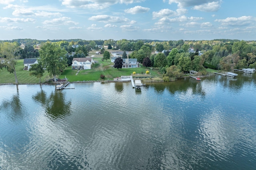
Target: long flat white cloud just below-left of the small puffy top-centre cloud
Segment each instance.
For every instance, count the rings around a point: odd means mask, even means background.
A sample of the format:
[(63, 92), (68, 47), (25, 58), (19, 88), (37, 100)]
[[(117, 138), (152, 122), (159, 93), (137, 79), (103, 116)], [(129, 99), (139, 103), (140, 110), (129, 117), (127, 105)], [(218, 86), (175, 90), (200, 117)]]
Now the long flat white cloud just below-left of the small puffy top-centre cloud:
[(129, 22), (130, 20), (128, 18), (120, 18), (116, 16), (109, 16), (109, 15), (98, 15), (98, 16), (92, 16), (88, 20), (91, 21), (99, 21), (99, 22), (105, 22), (105, 23), (124, 23)]

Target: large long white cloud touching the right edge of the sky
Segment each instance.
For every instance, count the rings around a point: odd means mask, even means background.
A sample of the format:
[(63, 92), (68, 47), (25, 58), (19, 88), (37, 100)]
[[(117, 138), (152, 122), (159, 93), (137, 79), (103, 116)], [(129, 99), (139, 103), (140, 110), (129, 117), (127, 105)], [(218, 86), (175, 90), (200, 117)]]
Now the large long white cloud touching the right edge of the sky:
[(238, 18), (228, 17), (223, 20), (215, 20), (215, 21), (222, 23), (222, 25), (245, 26), (245, 25), (250, 25), (254, 23), (256, 21), (256, 18), (252, 16), (242, 16)]

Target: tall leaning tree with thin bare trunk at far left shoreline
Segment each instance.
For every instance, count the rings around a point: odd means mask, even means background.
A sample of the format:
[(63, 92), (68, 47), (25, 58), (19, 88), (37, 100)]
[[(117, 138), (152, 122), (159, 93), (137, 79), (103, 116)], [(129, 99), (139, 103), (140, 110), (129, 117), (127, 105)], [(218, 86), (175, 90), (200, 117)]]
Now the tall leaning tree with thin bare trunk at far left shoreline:
[(4, 57), (4, 67), (7, 68), (8, 72), (14, 73), (15, 83), (18, 84), (16, 75), (16, 61), (19, 59), (18, 51), (20, 47), (14, 43), (2, 43), (0, 46), (0, 53)]

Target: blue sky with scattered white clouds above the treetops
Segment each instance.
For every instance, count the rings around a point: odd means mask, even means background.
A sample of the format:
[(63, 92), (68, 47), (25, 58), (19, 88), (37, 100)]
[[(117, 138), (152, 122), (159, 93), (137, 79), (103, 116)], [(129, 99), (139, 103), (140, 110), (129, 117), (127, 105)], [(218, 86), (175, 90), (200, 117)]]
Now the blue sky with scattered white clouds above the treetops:
[(0, 0), (0, 40), (256, 40), (256, 0)]

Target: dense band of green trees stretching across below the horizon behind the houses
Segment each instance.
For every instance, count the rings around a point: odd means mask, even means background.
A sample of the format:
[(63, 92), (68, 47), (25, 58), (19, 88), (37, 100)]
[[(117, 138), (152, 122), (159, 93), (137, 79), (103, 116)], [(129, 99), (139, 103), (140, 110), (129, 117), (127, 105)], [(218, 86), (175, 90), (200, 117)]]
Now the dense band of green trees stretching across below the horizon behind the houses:
[[(33, 40), (34, 42), (35, 40)], [(82, 41), (82, 40), (79, 40)], [(38, 43), (37, 41), (35, 41)], [(17, 59), (39, 57), (40, 64), (48, 70), (48, 72), (56, 77), (64, 71), (64, 68), (72, 64), (74, 57), (86, 57), (89, 51), (93, 48), (99, 47), (96, 41), (82, 41), (84, 45), (78, 45), (78, 41), (56, 41), (56, 42), (39, 42), (41, 49), (34, 49), (33, 46), (25, 46), (24, 49), (20, 48), (20, 43), (14, 42), (1, 42), (0, 43), (0, 58), (3, 61), (0, 68), (6, 68), (10, 73), (14, 73), (16, 77), (15, 64)], [(87, 42), (88, 44), (85, 44)], [(136, 58), (138, 62), (146, 67), (158, 68), (159, 72), (163, 74), (166, 80), (171, 78), (178, 78), (183, 73), (189, 70), (199, 71), (200, 74), (206, 74), (205, 67), (232, 70), (242, 68), (255, 68), (256, 67), (256, 42), (255, 41), (239, 41), (239, 40), (226, 40), (216, 39), (210, 41), (146, 41), (143, 40), (103, 40), (100, 41), (103, 45), (107, 43), (108, 48), (112, 44), (116, 47), (122, 48), (123, 51), (132, 51), (125, 58)], [(112, 44), (111, 44), (112, 43)], [(73, 45), (78, 45), (73, 47)], [(113, 45), (113, 46), (114, 46)], [(119, 45), (119, 46), (118, 46)], [(93, 48), (92, 48), (93, 47)], [(116, 48), (113, 47), (113, 48)], [(188, 50), (193, 49), (194, 52), (190, 53)], [(46, 53), (51, 51), (51, 54)], [(103, 60), (110, 59), (110, 53), (101, 49)], [(58, 52), (58, 53), (57, 53)], [(74, 52), (74, 53), (72, 53)], [(62, 63), (58, 66), (58, 70), (49, 66), (46, 56), (57, 57), (54, 61)], [(33, 70), (34, 68), (32, 68)], [(40, 70), (39, 68), (35, 68)], [(18, 83), (18, 80), (16, 80)]]

